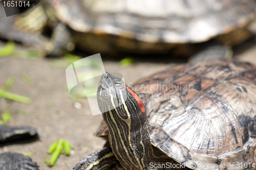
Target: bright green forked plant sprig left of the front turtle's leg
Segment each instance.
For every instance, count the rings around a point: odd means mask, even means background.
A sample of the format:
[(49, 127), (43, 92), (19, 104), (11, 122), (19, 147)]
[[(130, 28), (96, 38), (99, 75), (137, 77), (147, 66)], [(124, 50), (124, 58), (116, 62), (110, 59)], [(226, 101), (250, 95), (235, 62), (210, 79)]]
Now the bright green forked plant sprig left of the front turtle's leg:
[[(70, 155), (70, 150), (72, 149), (72, 145), (68, 140), (63, 140), (63, 138), (60, 138), (59, 140), (52, 143), (52, 145), (48, 149), (48, 154), (52, 154), (49, 161), (45, 158), (45, 163), (48, 166), (54, 166), (56, 165), (56, 160), (59, 157), (60, 154), (66, 154), (67, 156)], [(63, 152), (64, 150), (64, 152)]]

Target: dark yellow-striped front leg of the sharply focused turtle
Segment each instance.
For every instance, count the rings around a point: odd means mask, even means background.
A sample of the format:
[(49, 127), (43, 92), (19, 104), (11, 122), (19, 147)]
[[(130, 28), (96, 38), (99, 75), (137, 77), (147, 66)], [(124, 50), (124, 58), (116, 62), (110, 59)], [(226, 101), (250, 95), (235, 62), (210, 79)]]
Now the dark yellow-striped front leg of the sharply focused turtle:
[(81, 159), (79, 163), (73, 167), (74, 170), (104, 170), (104, 169), (123, 169), (115, 155), (113, 154), (111, 148), (104, 147), (91, 155), (88, 155)]

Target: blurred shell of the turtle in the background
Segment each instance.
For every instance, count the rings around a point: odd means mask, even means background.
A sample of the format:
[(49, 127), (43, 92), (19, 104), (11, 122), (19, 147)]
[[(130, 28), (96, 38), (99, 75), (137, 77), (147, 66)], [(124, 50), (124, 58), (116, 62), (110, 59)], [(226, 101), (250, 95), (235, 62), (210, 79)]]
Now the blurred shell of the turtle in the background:
[[(243, 28), (255, 16), (252, 0), (54, 0), (56, 16), (76, 31), (83, 49), (163, 52)], [(84, 34), (87, 33), (87, 34)]]

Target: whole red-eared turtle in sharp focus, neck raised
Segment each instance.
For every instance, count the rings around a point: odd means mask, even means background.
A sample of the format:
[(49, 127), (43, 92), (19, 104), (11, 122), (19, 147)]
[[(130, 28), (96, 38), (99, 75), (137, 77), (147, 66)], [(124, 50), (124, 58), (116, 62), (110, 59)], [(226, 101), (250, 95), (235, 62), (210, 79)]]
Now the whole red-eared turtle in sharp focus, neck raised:
[(255, 91), (248, 62), (181, 64), (132, 88), (105, 72), (97, 135), (109, 142), (73, 169), (255, 169)]

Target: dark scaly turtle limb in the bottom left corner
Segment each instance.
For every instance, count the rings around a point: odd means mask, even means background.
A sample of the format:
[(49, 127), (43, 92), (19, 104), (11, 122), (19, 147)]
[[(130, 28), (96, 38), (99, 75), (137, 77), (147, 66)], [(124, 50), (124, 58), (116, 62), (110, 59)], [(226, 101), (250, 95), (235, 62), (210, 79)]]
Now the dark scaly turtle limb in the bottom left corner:
[(2, 170), (39, 170), (38, 165), (31, 158), (18, 153), (7, 152), (0, 155), (0, 169)]

